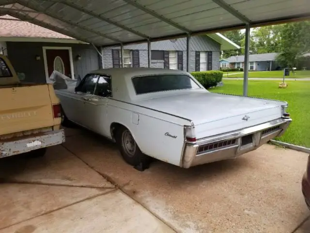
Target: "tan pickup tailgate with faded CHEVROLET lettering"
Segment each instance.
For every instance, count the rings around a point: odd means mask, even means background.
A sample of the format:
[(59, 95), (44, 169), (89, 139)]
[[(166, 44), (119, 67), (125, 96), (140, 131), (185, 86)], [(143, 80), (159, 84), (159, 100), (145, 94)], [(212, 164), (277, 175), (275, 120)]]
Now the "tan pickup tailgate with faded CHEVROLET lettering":
[(0, 86), (0, 135), (54, 124), (47, 84)]

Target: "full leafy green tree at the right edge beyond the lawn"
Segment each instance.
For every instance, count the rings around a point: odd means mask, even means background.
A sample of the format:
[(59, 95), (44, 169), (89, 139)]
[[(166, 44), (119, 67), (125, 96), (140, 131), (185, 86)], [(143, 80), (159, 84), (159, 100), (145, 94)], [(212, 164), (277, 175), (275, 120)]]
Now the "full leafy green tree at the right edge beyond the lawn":
[(288, 23), (280, 31), (281, 43), (277, 61), (282, 67), (298, 66), (303, 54), (310, 52), (310, 21)]

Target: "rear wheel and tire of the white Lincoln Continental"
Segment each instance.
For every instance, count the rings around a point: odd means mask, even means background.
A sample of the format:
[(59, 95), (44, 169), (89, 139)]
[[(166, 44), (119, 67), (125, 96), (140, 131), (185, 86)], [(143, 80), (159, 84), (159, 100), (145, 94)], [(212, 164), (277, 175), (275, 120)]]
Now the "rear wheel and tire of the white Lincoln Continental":
[(151, 158), (141, 152), (131, 132), (127, 128), (121, 127), (117, 129), (115, 139), (124, 160), (128, 164), (140, 171), (149, 168)]

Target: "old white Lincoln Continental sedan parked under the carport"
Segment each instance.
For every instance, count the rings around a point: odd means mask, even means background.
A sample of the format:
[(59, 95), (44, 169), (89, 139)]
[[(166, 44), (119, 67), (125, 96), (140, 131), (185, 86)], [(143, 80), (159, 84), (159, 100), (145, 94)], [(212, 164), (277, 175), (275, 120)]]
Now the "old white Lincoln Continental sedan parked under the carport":
[(184, 168), (235, 158), (292, 121), (286, 102), (210, 93), (180, 70), (100, 69), (56, 93), (64, 123), (115, 141), (141, 170), (150, 157)]

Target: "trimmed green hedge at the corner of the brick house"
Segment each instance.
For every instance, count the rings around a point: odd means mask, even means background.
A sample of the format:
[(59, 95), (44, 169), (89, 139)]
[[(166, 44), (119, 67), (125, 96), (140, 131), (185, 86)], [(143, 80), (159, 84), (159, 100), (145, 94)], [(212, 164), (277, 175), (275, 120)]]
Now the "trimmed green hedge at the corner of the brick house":
[(193, 75), (204, 88), (216, 86), (223, 78), (223, 72), (218, 70), (196, 71), (191, 72), (191, 75)]

